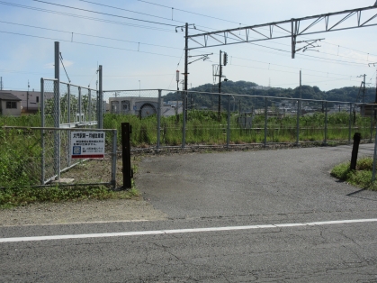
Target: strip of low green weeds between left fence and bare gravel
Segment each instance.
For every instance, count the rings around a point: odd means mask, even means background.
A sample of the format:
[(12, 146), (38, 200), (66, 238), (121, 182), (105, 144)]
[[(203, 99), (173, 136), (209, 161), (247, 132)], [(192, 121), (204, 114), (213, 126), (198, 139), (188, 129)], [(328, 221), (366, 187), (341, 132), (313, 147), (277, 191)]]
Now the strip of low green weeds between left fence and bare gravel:
[(18, 205), (85, 199), (130, 199), (138, 197), (136, 188), (127, 191), (112, 191), (103, 186), (72, 187), (19, 187), (0, 190), (0, 208), (11, 208)]

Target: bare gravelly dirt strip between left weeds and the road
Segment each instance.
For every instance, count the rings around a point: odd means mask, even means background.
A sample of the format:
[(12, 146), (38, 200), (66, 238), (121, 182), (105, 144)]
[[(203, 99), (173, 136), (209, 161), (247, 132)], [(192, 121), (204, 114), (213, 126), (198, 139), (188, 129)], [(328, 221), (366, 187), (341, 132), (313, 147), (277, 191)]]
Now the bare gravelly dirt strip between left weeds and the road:
[(0, 210), (0, 226), (163, 220), (144, 200), (109, 199), (32, 204)]

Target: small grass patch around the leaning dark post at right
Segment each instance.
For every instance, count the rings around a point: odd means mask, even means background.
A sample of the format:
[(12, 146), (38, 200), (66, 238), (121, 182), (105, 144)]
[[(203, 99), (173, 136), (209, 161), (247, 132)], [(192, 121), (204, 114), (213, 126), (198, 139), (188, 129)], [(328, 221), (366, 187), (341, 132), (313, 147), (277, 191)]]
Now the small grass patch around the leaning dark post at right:
[(377, 190), (377, 182), (372, 182), (373, 159), (368, 157), (357, 160), (356, 170), (350, 169), (350, 163), (337, 165), (331, 170), (331, 175), (356, 187)]

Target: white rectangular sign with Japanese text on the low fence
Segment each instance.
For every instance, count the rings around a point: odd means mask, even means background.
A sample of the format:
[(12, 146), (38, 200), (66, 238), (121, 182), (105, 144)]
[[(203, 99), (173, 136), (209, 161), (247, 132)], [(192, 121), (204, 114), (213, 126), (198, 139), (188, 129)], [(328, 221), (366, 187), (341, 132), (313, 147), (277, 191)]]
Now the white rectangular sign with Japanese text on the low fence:
[(71, 132), (73, 159), (103, 159), (104, 132)]

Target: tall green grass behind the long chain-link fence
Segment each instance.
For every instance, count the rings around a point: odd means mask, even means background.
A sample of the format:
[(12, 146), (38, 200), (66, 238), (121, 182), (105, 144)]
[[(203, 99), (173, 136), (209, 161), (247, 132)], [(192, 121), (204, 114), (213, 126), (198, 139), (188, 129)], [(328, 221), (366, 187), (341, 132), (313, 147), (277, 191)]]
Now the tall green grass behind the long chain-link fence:
[[(238, 126), (238, 114), (230, 116), (231, 143), (259, 143), (265, 140), (265, 115), (254, 115), (251, 129), (241, 129)], [(182, 144), (183, 114), (161, 117), (160, 144), (175, 146)], [(139, 119), (136, 115), (105, 114), (104, 128), (118, 129), (121, 123), (128, 122), (132, 126), (131, 145), (133, 147), (149, 147), (157, 144), (157, 117), (156, 115)], [(349, 113), (339, 112), (328, 114), (328, 140), (346, 141), (349, 138)], [(361, 132), (364, 139), (374, 136), (375, 123), (371, 131), (371, 118), (356, 114), (355, 121), (351, 121), (351, 138), (354, 132)], [(185, 139), (187, 144), (225, 144), (227, 142), (228, 117), (222, 112), (220, 120), (217, 112), (188, 111)], [(267, 142), (296, 142), (297, 116), (268, 117)], [(325, 114), (315, 113), (300, 117), (300, 142), (320, 142), (325, 139)], [(121, 139), (119, 136), (119, 143)]]

